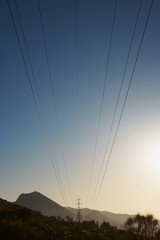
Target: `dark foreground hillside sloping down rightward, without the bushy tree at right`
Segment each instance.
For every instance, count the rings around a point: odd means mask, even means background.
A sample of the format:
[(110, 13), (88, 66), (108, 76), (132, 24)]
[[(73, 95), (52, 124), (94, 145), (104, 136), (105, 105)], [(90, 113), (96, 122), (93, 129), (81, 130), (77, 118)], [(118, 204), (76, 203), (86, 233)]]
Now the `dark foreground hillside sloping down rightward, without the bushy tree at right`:
[(94, 221), (77, 223), (47, 217), (0, 199), (1, 240), (120, 240), (121, 236), (128, 240), (126, 234), (109, 224), (98, 226)]

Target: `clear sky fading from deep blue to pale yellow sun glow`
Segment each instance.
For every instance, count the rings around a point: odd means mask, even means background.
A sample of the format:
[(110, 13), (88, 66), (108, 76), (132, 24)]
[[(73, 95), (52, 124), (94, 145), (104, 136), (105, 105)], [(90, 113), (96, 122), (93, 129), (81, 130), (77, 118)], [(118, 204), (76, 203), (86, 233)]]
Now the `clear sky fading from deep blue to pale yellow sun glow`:
[[(140, 1), (117, 1), (95, 160), (93, 155), (115, 1), (77, 0), (76, 5), (73, 0), (40, 0), (56, 110), (38, 2), (17, 0), (16, 3), (44, 110), (46, 137), (36, 111), (7, 1), (0, 0), (0, 197), (15, 201), (21, 193), (39, 191), (63, 206), (76, 207), (79, 197), (82, 207), (115, 213), (153, 213), (160, 219), (159, 1), (153, 1), (112, 155), (94, 206), (98, 174)], [(39, 108), (14, 1), (9, 0), (9, 4)], [(103, 171), (150, 4), (150, 0), (142, 1)], [(58, 167), (65, 201), (52, 160)]]

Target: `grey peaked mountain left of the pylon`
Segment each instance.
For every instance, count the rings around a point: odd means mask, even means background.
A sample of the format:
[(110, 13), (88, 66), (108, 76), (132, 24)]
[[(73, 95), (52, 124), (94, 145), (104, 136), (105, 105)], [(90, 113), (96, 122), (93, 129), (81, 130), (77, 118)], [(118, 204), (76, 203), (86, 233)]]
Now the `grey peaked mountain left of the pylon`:
[(73, 217), (73, 214), (69, 210), (39, 192), (22, 193), (15, 203), (32, 210), (40, 211), (45, 216)]

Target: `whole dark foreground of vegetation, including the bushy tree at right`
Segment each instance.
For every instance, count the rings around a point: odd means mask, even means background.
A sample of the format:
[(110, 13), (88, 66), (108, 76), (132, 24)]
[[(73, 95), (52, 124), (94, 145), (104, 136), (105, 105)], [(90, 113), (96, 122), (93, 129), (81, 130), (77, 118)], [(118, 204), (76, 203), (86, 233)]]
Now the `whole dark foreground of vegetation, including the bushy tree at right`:
[(153, 240), (160, 239), (158, 221), (152, 215), (136, 215), (117, 229), (108, 222), (74, 222), (46, 217), (23, 207), (0, 209), (1, 240)]

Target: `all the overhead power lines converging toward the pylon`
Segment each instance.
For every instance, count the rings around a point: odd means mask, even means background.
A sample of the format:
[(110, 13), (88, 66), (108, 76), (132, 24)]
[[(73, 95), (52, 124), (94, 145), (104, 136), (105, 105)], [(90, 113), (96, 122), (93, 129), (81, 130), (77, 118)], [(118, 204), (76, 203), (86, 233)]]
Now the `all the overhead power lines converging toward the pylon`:
[[(22, 44), (21, 44), (20, 37), (19, 37), (19, 34), (18, 34), (17, 26), (16, 26), (16, 23), (15, 23), (15, 20), (14, 20), (14, 17), (13, 17), (12, 9), (11, 9), (9, 0), (6, 0), (6, 1), (7, 1), (7, 4), (8, 4), (8, 9), (9, 9), (9, 12), (10, 12), (13, 27), (14, 27), (14, 30), (15, 30), (15, 33), (16, 33), (18, 46), (19, 46), (21, 56), (22, 56), (22, 60), (23, 60), (23, 63), (24, 63), (24, 67), (25, 67), (25, 70), (26, 70), (27, 79), (28, 79), (29, 86), (30, 86), (30, 89), (31, 89), (31, 92), (32, 92), (32, 96), (33, 96), (34, 104), (35, 104), (35, 107), (36, 107), (37, 115), (38, 115), (38, 118), (39, 118), (39, 121), (40, 121), (42, 133), (43, 133), (44, 138), (45, 138), (45, 143), (46, 143), (46, 148), (47, 148), (47, 151), (48, 151), (48, 156), (49, 156), (49, 159), (51, 161), (51, 165), (53, 167), (54, 174), (56, 176), (57, 184), (58, 184), (58, 187), (59, 187), (64, 205), (69, 206), (68, 200), (67, 200), (67, 197), (66, 197), (66, 193), (64, 191), (64, 186), (63, 186), (63, 183), (62, 183), (62, 178), (61, 178), (61, 175), (60, 175), (58, 164), (57, 164), (55, 156), (53, 156), (52, 151), (51, 151), (51, 142), (50, 142), (49, 137), (48, 137), (48, 128), (47, 128), (47, 123), (46, 123), (46, 117), (45, 117), (45, 114), (44, 114), (43, 105), (42, 105), (42, 101), (41, 101), (41, 97), (40, 97), (40, 93), (39, 93), (39, 89), (38, 89), (37, 79), (36, 79), (35, 74), (34, 74), (34, 69), (33, 69), (31, 58), (30, 58), (28, 44), (27, 44), (27, 41), (26, 41), (24, 28), (23, 28), (23, 24), (22, 24), (22, 21), (21, 21), (21, 17), (20, 17), (18, 6), (17, 6), (17, 2), (16, 2), (16, 0), (14, 0), (15, 9), (16, 9), (16, 13), (17, 13), (17, 16), (18, 16), (21, 32), (22, 32), (24, 46), (25, 46), (25, 50), (26, 50), (26, 53), (27, 53), (27, 58), (28, 58), (28, 61), (29, 61), (29, 66), (30, 66), (30, 69), (31, 69), (31, 75), (32, 75), (32, 78), (33, 78), (36, 93), (34, 91), (34, 87), (33, 87), (32, 81), (31, 81), (31, 76), (29, 74), (27, 61), (25, 59), (24, 50), (22, 48)], [(139, 43), (139, 46), (138, 46), (136, 58), (135, 58), (133, 68), (132, 68), (132, 71), (131, 71), (131, 76), (130, 76), (130, 79), (128, 81), (128, 87), (127, 87), (127, 90), (126, 90), (126, 93), (125, 93), (124, 101), (123, 101), (122, 108), (121, 108), (121, 111), (120, 111), (120, 114), (119, 114), (119, 118), (118, 118), (118, 122), (117, 122), (117, 125), (116, 125), (116, 128), (115, 128), (115, 132), (113, 134), (113, 140), (111, 142), (111, 134), (113, 133), (113, 126), (114, 126), (114, 123), (115, 123), (115, 118), (116, 118), (116, 115), (117, 115), (117, 110), (118, 110), (118, 106), (119, 106), (119, 102), (120, 102), (120, 96), (121, 96), (122, 88), (123, 88), (123, 85), (124, 85), (126, 70), (127, 70), (127, 67), (128, 67), (129, 59), (130, 59), (130, 54), (131, 54), (131, 50), (132, 50), (133, 41), (134, 41), (134, 38), (135, 38), (135, 32), (136, 32), (139, 16), (140, 16), (140, 13), (142, 11), (142, 0), (139, 1), (139, 5), (137, 6), (137, 14), (136, 14), (136, 18), (135, 18), (133, 32), (132, 32), (132, 35), (131, 35), (131, 40), (130, 40), (130, 44), (129, 44), (128, 54), (127, 54), (127, 57), (126, 57), (125, 67), (124, 67), (123, 74), (122, 74), (122, 79), (121, 79), (120, 88), (119, 88), (119, 92), (118, 92), (118, 96), (117, 96), (117, 100), (116, 100), (116, 105), (115, 105), (114, 112), (113, 112), (113, 117), (112, 117), (110, 129), (109, 129), (109, 134), (108, 134), (103, 158), (102, 158), (102, 161), (101, 161), (101, 164), (100, 164), (100, 170), (98, 172), (96, 185), (95, 185), (95, 188), (94, 188), (94, 191), (93, 191), (92, 200), (90, 201), (90, 207), (92, 207), (92, 208), (94, 208), (94, 206), (97, 202), (97, 199), (100, 195), (100, 191), (101, 191), (101, 188), (102, 188), (102, 185), (103, 185), (103, 182), (104, 182), (104, 178), (105, 178), (105, 175), (106, 175), (106, 172), (107, 172), (107, 169), (108, 169), (108, 165), (109, 165), (109, 162), (110, 162), (110, 159), (111, 159), (111, 156), (112, 156), (112, 152), (113, 152), (113, 149), (114, 149), (114, 146), (115, 146), (118, 130), (119, 130), (120, 123), (121, 123), (121, 120), (122, 120), (122, 117), (123, 117), (123, 113), (124, 113), (124, 109), (125, 109), (125, 106), (126, 106), (127, 98), (128, 98), (129, 91), (130, 91), (130, 88), (131, 88), (131, 84), (132, 84), (132, 81), (133, 81), (133, 76), (134, 76), (134, 73), (135, 73), (138, 58), (139, 58), (140, 51), (141, 51), (141, 48), (142, 48), (142, 44), (143, 44), (144, 36), (145, 36), (145, 33), (146, 33), (148, 21), (149, 21), (150, 15), (151, 15), (153, 2), (154, 2), (154, 0), (151, 0), (150, 7), (149, 7), (149, 10), (148, 10), (148, 14), (147, 14), (147, 17), (146, 17), (146, 20), (145, 20), (144, 28), (143, 28), (143, 31), (142, 31), (142, 36), (141, 36), (140, 43)], [(50, 62), (49, 62), (49, 56), (48, 56), (48, 48), (47, 48), (46, 37), (45, 37), (45, 29), (44, 29), (43, 17), (42, 17), (42, 13), (41, 13), (41, 7), (40, 7), (39, 0), (37, 0), (37, 5), (38, 5), (38, 12), (39, 12), (39, 17), (40, 17), (42, 37), (43, 37), (43, 42), (44, 42), (44, 49), (45, 49), (45, 54), (46, 54), (49, 82), (50, 82), (52, 98), (53, 98), (53, 109), (54, 109), (55, 116), (56, 116), (56, 123), (57, 123), (59, 139), (61, 140), (62, 139), (62, 132), (61, 132), (61, 128), (60, 128), (59, 116), (58, 116), (58, 111), (57, 111), (57, 104), (56, 104), (55, 93), (54, 93), (53, 78), (52, 78), (52, 74), (51, 74), (51, 68), (50, 68)], [(101, 104), (100, 104), (99, 115), (98, 115), (98, 125), (97, 125), (97, 130), (96, 130), (93, 158), (92, 158), (92, 163), (91, 163), (91, 171), (90, 171), (90, 175), (89, 175), (89, 183), (88, 183), (88, 189), (87, 189), (87, 194), (86, 194), (86, 202), (88, 201), (88, 198), (89, 198), (89, 194), (90, 194), (90, 191), (91, 191), (91, 185), (92, 185), (92, 179), (93, 179), (93, 170), (94, 170), (94, 165), (95, 165), (95, 157), (96, 157), (96, 151), (97, 151), (97, 145), (98, 145), (98, 139), (99, 139), (99, 131), (100, 131), (101, 118), (102, 118), (102, 110), (103, 110), (103, 107), (104, 107), (104, 96), (105, 96), (106, 85), (107, 85), (107, 81), (108, 81), (108, 69), (109, 69), (109, 64), (110, 64), (110, 56), (111, 56), (111, 52), (112, 52), (112, 42), (113, 42), (113, 35), (114, 35), (114, 29), (115, 29), (117, 7), (118, 7), (118, 0), (115, 0), (113, 18), (112, 18), (112, 26), (111, 26), (111, 33), (110, 33), (110, 40), (109, 40), (109, 48), (108, 48), (108, 54), (107, 54), (105, 78), (104, 78)], [(78, 132), (79, 132), (78, 131), (78, 126), (79, 126), (79, 123), (78, 123), (79, 62), (78, 62), (78, 20), (77, 19), (78, 19), (78, 1), (75, 0), (76, 85), (77, 85), (77, 90), (76, 90), (76, 96), (77, 96), (77, 164), (78, 164), (78, 171), (79, 171), (79, 136), (78, 136)], [(110, 146), (110, 149), (109, 149), (109, 146)], [(68, 171), (67, 171), (67, 166), (66, 166), (66, 161), (65, 161), (65, 154), (64, 154), (64, 149), (62, 148), (62, 146), (61, 146), (61, 149), (62, 149), (62, 156), (63, 156), (65, 174), (66, 174), (66, 177), (67, 177), (68, 191), (69, 191), (69, 195), (70, 195), (70, 198), (71, 198), (71, 202), (73, 203), (72, 191), (71, 191), (71, 186), (70, 186), (70, 181), (69, 181), (69, 176), (68, 176)], [(107, 152), (108, 152), (108, 156), (106, 158)]]

